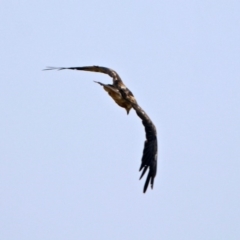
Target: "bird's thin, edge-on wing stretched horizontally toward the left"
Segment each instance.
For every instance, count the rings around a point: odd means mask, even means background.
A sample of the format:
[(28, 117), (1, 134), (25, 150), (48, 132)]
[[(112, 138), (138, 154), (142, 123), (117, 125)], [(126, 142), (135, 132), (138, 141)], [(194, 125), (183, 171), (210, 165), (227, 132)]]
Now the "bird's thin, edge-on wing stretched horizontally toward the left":
[(89, 67), (47, 67), (44, 70), (79, 70), (79, 71), (89, 71), (89, 72), (101, 72), (108, 74), (110, 77), (112, 77), (113, 82), (118, 81), (122, 82), (120, 76), (112, 69), (106, 68), (106, 67), (99, 67), (99, 66), (89, 66)]

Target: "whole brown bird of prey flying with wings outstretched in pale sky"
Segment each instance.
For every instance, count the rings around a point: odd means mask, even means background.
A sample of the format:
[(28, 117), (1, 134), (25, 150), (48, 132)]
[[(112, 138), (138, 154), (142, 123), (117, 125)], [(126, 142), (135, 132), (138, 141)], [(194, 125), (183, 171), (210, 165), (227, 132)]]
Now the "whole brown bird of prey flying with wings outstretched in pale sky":
[(133, 108), (136, 114), (141, 118), (142, 124), (146, 132), (146, 140), (144, 143), (143, 156), (139, 171), (141, 172), (140, 179), (148, 170), (148, 175), (144, 184), (143, 192), (145, 193), (149, 183), (153, 188), (154, 178), (157, 173), (157, 131), (151, 119), (145, 113), (145, 111), (138, 105), (132, 92), (124, 85), (120, 76), (112, 69), (100, 66), (89, 67), (48, 67), (44, 70), (80, 70), (90, 72), (100, 72), (108, 74), (112, 77), (113, 84), (100, 84), (104, 90), (113, 98), (113, 100), (122, 108), (125, 108), (127, 114)]

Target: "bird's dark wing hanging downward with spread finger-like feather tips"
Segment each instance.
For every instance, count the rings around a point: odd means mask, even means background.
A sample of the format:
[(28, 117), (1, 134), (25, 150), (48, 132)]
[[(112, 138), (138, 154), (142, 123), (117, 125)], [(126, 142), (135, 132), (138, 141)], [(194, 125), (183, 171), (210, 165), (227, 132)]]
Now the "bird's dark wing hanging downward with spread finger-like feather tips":
[(157, 131), (151, 119), (138, 104), (133, 104), (133, 108), (135, 109), (137, 115), (142, 119), (146, 132), (142, 163), (139, 169), (139, 171), (142, 171), (140, 179), (148, 170), (147, 179), (143, 188), (143, 192), (145, 193), (149, 182), (151, 184), (151, 188), (153, 188), (154, 178), (157, 173)]

